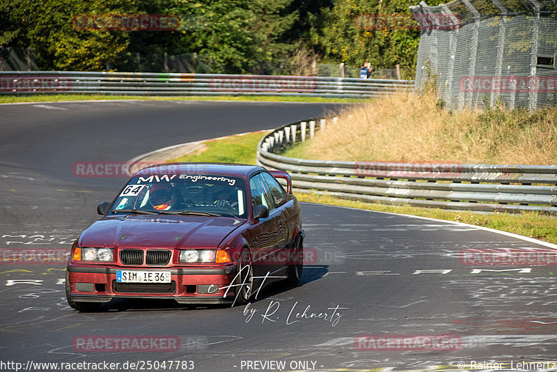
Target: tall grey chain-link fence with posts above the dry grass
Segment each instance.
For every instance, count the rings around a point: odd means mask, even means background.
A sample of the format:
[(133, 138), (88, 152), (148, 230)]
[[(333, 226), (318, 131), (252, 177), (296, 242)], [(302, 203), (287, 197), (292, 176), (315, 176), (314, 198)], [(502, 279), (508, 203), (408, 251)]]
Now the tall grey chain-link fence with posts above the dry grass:
[(423, 1), (416, 90), (437, 84), (450, 109), (557, 106), (556, 0)]

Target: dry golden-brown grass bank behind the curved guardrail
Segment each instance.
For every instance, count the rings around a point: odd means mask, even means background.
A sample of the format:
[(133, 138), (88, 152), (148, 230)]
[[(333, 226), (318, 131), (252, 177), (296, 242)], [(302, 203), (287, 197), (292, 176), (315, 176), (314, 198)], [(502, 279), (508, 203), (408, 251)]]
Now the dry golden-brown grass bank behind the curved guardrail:
[[(329, 121), (331, 123), (331, 121)], [(322, 160), (557, 164), (557, 109), (460, 111), (432, 93), (352, 106), (286, 154)]]

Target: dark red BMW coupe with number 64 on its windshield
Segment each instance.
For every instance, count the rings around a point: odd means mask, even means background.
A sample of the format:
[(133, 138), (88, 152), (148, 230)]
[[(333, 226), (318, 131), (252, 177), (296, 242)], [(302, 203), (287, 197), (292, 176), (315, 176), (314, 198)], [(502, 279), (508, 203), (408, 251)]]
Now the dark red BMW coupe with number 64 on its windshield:
[[(286, 181), (286, 191), (277, 178)], [(245, 304), (273, 281), (296, 286), (304, 231), (290, 176), (260, 166), (171, 163), (132, 176), (74, 242), (74, 309), (113, 298)]]

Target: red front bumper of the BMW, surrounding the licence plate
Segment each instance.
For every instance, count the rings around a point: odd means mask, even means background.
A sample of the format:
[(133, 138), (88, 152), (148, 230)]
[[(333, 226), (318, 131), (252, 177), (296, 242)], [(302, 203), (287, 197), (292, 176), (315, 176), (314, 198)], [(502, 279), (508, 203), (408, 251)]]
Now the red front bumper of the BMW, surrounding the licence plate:
[[(171, 272), (170, 284), (116, 281), (118, 270)], [(74, 302), (109, 302), (113, 298), (157, 298), (180, 304), (221, 304), (235, 296), (235, 265), (222, 268), (120, 268), (68, 265), (69, 297)]]

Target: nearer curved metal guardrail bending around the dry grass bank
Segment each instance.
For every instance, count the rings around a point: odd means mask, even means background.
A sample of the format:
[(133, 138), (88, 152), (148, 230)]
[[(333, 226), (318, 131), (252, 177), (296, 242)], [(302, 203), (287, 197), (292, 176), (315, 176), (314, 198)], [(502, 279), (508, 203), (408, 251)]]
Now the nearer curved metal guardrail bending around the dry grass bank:
[(258, 144), (258, 164), (288, 171), (297, 192), (372, 203), (557, 215), (557, 165), (402, 164), (304, 160), (278, 155), (332, 120), (279, 127)]

